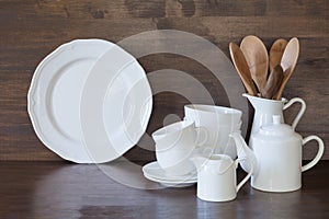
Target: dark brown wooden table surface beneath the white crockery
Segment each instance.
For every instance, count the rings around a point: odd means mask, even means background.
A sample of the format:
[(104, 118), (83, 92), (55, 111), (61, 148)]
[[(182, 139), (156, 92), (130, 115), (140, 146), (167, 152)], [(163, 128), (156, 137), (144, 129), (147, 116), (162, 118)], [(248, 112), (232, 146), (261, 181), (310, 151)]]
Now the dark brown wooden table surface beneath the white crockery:
[[(163, 188), (141, 165), (0, 162), (0, 218), (328, 218), (329, 161), (303, 174), (302, 189), (263, 193), (247, 183), (235, 200), (196, 198), (196, 185)], [(238, 177), (245, 173), (238, 172)]]

